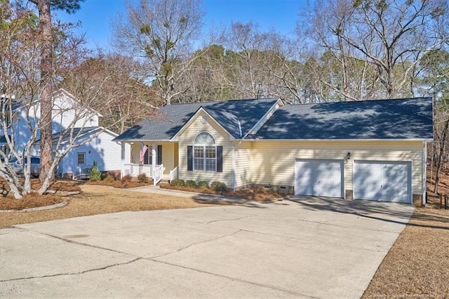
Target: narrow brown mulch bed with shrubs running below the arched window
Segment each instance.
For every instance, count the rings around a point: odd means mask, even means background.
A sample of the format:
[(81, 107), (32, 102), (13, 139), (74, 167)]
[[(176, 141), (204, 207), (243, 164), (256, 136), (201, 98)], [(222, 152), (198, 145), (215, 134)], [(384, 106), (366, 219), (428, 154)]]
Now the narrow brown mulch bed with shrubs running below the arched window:
[(215, 194), (215, 195), (223, 195), (225, 197), (237, 197), (241, 199), (248, 199), (248, 200), (254, 200), (254, 201), (273, 201), (276, 199), (283, 198), (282, 194), (276, 193), (276, 192), (269, 192), (268, 190), (260, 189), (253, 189), (248, 188), (246, 190), (239, 190), (239, 191), (227, 191), (227, 192), (215, 192), (210, 189), (199, 189), (199, 188), (193, 188), (193, 187), (185, 187), (185, 186), (171, 186), (168, 184), (161, 185), (161, 188), (163, 189), (170, 189), (170, 190), (179, 190), (179, 191), (187, 191), (187, 192), (196, 192), (196, 193), (204, 193), (204, 194)]

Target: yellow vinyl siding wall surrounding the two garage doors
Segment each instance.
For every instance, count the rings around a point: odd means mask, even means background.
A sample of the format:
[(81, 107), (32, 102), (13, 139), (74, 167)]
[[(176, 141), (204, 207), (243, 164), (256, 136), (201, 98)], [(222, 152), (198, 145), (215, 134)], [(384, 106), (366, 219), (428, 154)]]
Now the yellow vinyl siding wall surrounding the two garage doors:
[(421, 141), (256, 141), (253, 142), (251, 174), (257, 184), (294, 185), (295, 158), (342, 160), (344, 187), (352, 190), (354, 160), (411, 161), (413, 194), (422, 192)]

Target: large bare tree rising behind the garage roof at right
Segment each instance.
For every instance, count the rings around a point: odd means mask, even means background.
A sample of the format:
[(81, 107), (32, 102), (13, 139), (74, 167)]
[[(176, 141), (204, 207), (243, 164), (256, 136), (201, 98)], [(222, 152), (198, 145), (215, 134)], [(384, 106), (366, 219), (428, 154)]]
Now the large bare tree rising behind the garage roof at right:
[(356, 77), (350, 69), (356, 63), (361, 64), (355, 74), (359, 78), (375, 69), (375, 77), (368, 77), (359, 87), (382, 87), (382, 93), (368, 96), (394, 98), (410, 94), (408, 86), (417, 62), (448, 39), (447, 16), (444, 0), (316, 1), (304, 27), (309, 38), (340, 64), (340, 88), (335, 91), (347, 99), (361, 94), (351, 91), (350, 81)]

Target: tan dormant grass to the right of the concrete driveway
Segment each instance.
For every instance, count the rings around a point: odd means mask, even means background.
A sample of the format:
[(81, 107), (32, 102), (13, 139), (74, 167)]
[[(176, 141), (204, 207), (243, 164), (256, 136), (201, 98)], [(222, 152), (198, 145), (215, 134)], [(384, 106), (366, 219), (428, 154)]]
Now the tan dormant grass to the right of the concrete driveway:
[(448, 279), (449, 211), (417, 208), (362, 298), (448, 298)]

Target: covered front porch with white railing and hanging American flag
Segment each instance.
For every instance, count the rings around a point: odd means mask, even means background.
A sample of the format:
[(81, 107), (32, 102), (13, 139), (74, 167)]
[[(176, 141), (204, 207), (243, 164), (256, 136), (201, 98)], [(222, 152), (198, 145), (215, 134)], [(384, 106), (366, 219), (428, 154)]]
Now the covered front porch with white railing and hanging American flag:
[(137, 178), (145, 173), (154, 185), (161, 180), (174, 180), (179, 176), (177, 142), (142, 141), (130, 143), (130, 152), (122, 152), (121, 178), (130, 175)]

